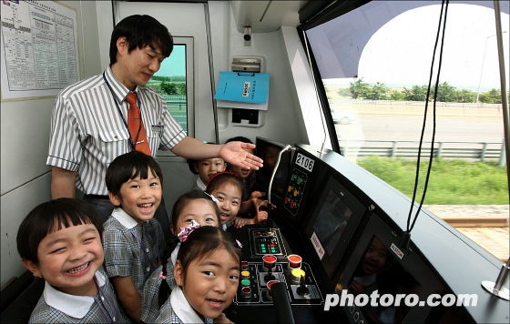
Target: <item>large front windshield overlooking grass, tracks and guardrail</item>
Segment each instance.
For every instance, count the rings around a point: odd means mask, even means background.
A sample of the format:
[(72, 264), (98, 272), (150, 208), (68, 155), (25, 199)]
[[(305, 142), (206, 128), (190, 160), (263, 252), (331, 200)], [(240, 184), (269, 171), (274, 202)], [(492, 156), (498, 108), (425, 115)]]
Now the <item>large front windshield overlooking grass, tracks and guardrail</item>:
[[(505, 170), (492, 2), (448, 6), (437, 86), (433, 167), (423, 206), (497, 258), (508, 258)], [(508, 3), (501, 25), (508, 85)], [(306, 30), (344, 157), (413, 197), (441, 2), (372, 1)], [(416, 202), (433, 134), (432, 86)], [(508, 91), (508, 89), (506, 89)]]

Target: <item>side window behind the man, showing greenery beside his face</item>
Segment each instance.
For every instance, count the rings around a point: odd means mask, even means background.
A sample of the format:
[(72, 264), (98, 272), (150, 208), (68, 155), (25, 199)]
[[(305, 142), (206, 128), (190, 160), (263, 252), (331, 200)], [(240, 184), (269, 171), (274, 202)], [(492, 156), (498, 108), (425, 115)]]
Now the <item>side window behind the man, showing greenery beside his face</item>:
[[(174, 49), (147, 86), (163, 96), (170, 114), (189, 137), (194, 134), (193, 118), (193, 37), (174, 37)], [(160, 151), (158, 155), (170, 152)]]

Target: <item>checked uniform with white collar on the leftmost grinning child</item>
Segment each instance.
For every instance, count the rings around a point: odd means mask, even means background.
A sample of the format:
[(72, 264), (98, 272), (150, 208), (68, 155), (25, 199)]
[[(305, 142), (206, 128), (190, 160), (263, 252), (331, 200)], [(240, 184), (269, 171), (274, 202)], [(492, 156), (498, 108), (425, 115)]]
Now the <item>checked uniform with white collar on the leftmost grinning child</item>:
[(75, 296), (53, 288), (45, 282), (43, 295), (32, 311), (29, 323), (131, 323), (120, 307), (113, 286), (103, 267), (94, 278), (96, 296)]

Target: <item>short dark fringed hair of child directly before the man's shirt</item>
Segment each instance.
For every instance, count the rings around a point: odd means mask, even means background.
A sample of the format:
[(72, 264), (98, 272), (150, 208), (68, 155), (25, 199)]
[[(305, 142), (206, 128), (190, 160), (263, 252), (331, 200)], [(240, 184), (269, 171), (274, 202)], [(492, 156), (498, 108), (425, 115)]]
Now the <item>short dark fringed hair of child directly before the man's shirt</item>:
[(159, 178), (161, 187), (163, 187), (163, 172), (158, 162), (153, 158), (138, 151), (131, 151), (116, 157), (107, 168), (106, 183), (109, 192), (120, 197), (120, 187), (140, 176), (142, 179), (148, 178), (148, 170), (152, 175)]

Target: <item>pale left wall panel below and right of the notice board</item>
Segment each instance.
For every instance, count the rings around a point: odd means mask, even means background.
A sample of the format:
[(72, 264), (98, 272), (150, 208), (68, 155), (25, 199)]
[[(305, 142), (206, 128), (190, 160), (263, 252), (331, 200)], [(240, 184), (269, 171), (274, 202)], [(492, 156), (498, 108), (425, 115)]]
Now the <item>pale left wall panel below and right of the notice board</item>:
[[(99, 74), (100, 29), (97, 27), (96, 2), (61, 3), (76, 9), (80, 78)], [(9, 278), (19, 276), (24, 269), (15, 248), (19, 224), (30, 210), (51, 198), (51, 168), (46, 166), (46, 157), (54, 104), (55, 97), (2, 100), (0, 110), (2, 285)]]

